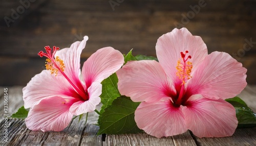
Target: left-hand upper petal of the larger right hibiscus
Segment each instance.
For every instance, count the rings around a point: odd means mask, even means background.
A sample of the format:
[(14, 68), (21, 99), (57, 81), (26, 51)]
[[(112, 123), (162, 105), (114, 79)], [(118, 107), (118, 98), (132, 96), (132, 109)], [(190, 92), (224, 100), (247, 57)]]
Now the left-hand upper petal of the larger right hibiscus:
[(130, 96), (134, 102), (156, 102), (176, 94), (157, 61), (129, 61), (116, 74), (119, 92)]

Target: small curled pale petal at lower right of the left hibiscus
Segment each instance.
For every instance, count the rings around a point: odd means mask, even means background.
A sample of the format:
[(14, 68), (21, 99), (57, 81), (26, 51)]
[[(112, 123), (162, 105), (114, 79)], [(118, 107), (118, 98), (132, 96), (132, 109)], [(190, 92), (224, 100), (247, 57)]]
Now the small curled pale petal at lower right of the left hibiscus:
[(87, 113), (94, 111), (96, 106), (100, 103), (102, 85), (100, 83), (94, 82), (88, 88), (89, 100), (88, 101), (78, 101), (70, 107), (70, 112), (74, 115), (80, 115), (82, 113)]

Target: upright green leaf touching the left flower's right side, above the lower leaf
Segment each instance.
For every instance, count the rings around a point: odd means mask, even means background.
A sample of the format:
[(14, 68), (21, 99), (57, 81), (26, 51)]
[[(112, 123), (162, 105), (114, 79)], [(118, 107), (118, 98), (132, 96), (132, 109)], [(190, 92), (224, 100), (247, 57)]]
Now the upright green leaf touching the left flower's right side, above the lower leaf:
[(102, 107), (100, 110), (100, 114), (102, 114), (104, 112), (104, 109), (107, 106), (111, 105), (116, 98), (120, 97), (120, 93), (117, 88), (117, 82), (118, 78), (116, 76), (116, 73), (101, 82), (102, 93), (100, 95), (100, 99)]

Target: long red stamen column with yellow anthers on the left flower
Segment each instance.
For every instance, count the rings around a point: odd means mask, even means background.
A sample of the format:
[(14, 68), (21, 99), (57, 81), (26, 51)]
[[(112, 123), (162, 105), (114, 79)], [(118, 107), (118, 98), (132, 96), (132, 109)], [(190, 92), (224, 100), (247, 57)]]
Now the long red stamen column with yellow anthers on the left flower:
[(65, 69), (65, 64), (63, 60), (61, 60), (58, 56), (56, 58), (54, 57), (55, 53), (57, 50), (59, 50), (59, 47), (53, 46), (53, 51), (50, 48), (50, 46), (45, 46), (46, 53), (40, 51), (38, 55), (40, 57), (45, 56), (47, 57), (46, 59), (46, 69), (51, 71), (51, 74), (55, 74), (57, 76), (58, 72), (60, 72), (72, 85), (72, 87), (78, 92), (78, 94), (82, 95), (82, 98), (86, 98), (84, 100), (88, 100), (88, 96), (84, 92), (84, 90), (79, 89), (65, 74), (64, 69)]

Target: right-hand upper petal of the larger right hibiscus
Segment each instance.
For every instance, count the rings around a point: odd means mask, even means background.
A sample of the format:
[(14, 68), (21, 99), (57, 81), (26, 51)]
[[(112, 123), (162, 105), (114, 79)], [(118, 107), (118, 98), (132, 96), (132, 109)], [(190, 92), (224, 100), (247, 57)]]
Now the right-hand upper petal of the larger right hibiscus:
[(242, 63), (227, 53), (213, 52), (192, 70), (193, 78), (188, 80), (187, 87), (193, 94), (209, 99), (233, 98), (247, 85), (246, 71)]

